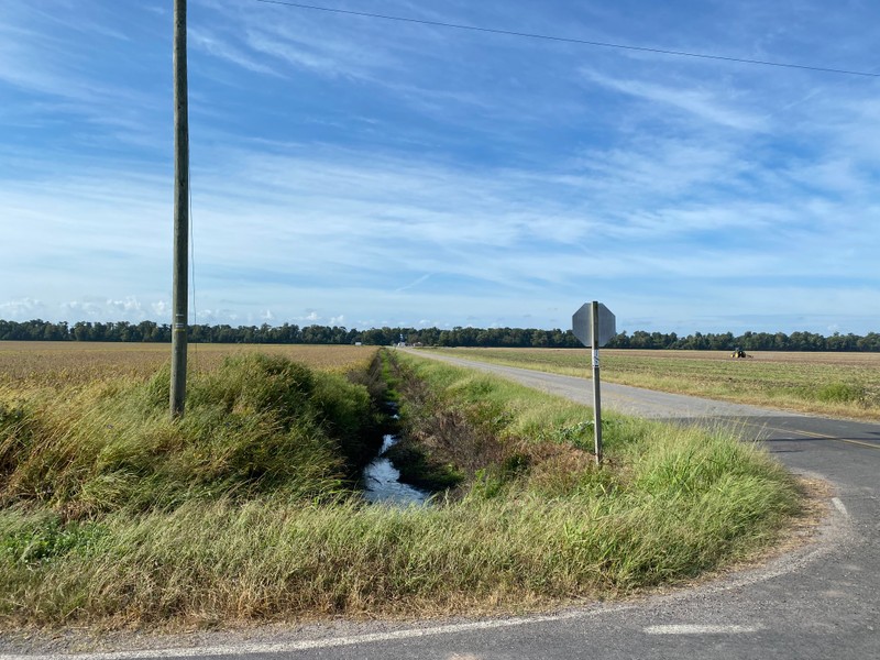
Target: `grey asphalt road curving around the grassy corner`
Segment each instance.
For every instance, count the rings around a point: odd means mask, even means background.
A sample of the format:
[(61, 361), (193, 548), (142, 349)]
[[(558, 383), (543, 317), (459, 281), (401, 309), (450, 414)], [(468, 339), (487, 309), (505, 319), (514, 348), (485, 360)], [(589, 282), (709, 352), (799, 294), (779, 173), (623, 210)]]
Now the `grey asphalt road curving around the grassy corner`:
[[(587, 382), (481, 365), (505, 377), (590, 402)], [(766, 566), (693, 590), (552, 616), (438, 625), (334, 624), (296, 631), (156, 640), (164, 650), (86, 654), (147, 658), (730, 659), (880, 658), (880, 425), (705, 402), (604, 384), (603, 407), (666, 419), (740, 420), (792, 470), (834, 486), (816, 540)], [(187, 649), (167, 647), (185, 645)], [(24, 656), (3, 654), (0, 660)], [(43, 652), (30, 658), (69, 658)]]

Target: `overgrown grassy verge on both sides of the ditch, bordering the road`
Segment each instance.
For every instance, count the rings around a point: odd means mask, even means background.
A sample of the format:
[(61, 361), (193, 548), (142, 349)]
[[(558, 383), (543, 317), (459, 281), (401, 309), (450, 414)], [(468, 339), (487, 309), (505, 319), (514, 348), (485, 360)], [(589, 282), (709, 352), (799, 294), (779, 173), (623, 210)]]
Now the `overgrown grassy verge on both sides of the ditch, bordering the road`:
[(409, 441), (461, 477), (431, 507), (365, 505), (346, 481), (369, 375), (241, 358), (196, 380), (178, 424), (165, 374), (4, 391), (0, 623), (521, 610), (692, 578), (796, 515), (785, 473), (723, 433), (609, 419), (597, 470), (580, 406), (428, 361), (394, 370)]

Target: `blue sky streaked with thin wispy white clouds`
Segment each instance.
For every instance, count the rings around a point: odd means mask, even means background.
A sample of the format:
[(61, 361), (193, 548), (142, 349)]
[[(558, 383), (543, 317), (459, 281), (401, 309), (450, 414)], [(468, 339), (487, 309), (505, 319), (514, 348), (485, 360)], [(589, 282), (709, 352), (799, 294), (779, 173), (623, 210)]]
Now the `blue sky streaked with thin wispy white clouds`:
[[(880, 74), (877, 0), (314, 1), (413, 21), (188, 2), (190, 322), (880, 331), (880, 77), (575, 43)], [(172, 42), (0, 2), (0, 319), (170, 322)]]

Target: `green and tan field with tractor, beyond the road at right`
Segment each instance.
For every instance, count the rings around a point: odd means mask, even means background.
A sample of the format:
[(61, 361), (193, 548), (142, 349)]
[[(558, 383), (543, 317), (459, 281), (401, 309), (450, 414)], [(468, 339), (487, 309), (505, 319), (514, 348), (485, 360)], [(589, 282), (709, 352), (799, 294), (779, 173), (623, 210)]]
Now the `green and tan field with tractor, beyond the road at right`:
[[(590, 377), (588, 349), (437, 349), (459, 358)], [(857, 419), (880, 419), (879, 353), (603, 350), (610, 383)]]

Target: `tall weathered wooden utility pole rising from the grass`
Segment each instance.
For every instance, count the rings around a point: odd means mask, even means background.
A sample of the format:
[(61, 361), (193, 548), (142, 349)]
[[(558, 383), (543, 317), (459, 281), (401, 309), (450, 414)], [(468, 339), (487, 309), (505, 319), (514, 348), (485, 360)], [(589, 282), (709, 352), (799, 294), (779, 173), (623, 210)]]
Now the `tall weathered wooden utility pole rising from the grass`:
[(186, 0), (174, 0), (174, 293), (172, 302), (172, 417), (186, 400), (189, 250), (189, 103), (186, 80)]

